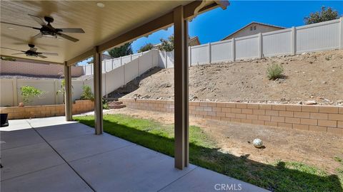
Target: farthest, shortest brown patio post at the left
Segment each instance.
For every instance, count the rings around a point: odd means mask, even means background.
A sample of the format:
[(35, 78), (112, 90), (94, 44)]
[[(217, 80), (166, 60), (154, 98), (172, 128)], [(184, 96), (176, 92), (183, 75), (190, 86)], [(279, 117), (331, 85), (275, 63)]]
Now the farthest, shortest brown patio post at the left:
[(66, 121), (73, 120), (72, 105), (73, 101), (71, 99), (71, 66), (64, 63), (64, 103), (65, 103), (65, 114)]

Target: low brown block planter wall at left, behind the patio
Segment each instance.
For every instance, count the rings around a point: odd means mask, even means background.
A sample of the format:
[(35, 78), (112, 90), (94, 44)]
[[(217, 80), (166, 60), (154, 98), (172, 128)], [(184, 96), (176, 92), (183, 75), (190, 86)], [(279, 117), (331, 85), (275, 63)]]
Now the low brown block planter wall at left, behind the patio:
[[(94, 110), (94, 102), (92, 102), (91, 100), (76, 100), (72, 108), (73, 114), (90, 112)], [(9, 119), (54, 117), (64, 115), (64, 105), (0, 107), (0, 113), (9, 114)]]

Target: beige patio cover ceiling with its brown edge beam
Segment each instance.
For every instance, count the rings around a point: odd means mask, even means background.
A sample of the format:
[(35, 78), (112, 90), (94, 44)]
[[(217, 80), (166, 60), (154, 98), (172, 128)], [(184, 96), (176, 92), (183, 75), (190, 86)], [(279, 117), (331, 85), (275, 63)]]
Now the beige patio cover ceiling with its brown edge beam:
[[(83, 28), (85, 31), (66, 33), (79, 39), (74, 43), (64, 38), (34, 39), (31, 37), (39, 33), (38, 30), (1, 23), (1, 47), (28, 50), (27, 44), (33, 43), (37, 51), (59, 55), (31, 59), (61, 64), (68, 61), (71, 65), (92, 56), (95, 46), (99, 46), (99, 51), (104, 51), (171, 26), (172, 11), (177, 6), (185, 6), (184, 14), (192, 17), (194, 11), (201, 13), (228, 5), (228, 1), (101, 1), (105, 6), (100, 8), (96, 6), (97, 2), (1, 1), (1, 21), (40, 28), (28, 14), (52, 16), (54, 23), (51, 25), (54, 28)], [(1, 48), (2, 56), (13, 57), (12, 53), (17, 52)], [(29, 58), (26, 55), (16, 57)]]

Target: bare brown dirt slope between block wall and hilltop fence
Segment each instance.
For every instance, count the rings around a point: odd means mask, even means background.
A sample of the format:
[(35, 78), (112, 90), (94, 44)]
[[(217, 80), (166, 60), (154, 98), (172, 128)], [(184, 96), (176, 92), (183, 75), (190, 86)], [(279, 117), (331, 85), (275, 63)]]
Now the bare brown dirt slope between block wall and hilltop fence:
[[(267, 67), (279, 63), (285, 78), (268, 80)], [(127, 94), (127, 95), (126, 95)], [(174, 69), (154, 69), (110, 97), (174, 98)], [(343, 50), (189, 68), (189, 99), (343, 105)]]

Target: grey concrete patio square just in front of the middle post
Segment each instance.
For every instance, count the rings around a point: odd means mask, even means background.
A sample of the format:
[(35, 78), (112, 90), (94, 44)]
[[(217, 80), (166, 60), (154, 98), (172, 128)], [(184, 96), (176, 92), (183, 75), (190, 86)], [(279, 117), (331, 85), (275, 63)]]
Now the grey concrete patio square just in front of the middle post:
[[(84, 125), (84, 129), (89, 129), (89, 127)], [(66, 161), (74, 161), (86, 156), (101, 154), (106, 151), (129, 146), (132, 143), (104, 133), (101, 135), (86, 134), (79, 137), (71, 137), (69, 139), (54, 140), (51, 141), (50, 144), (56, 151), (59, 151), (59, 154), (63, 156)]]

